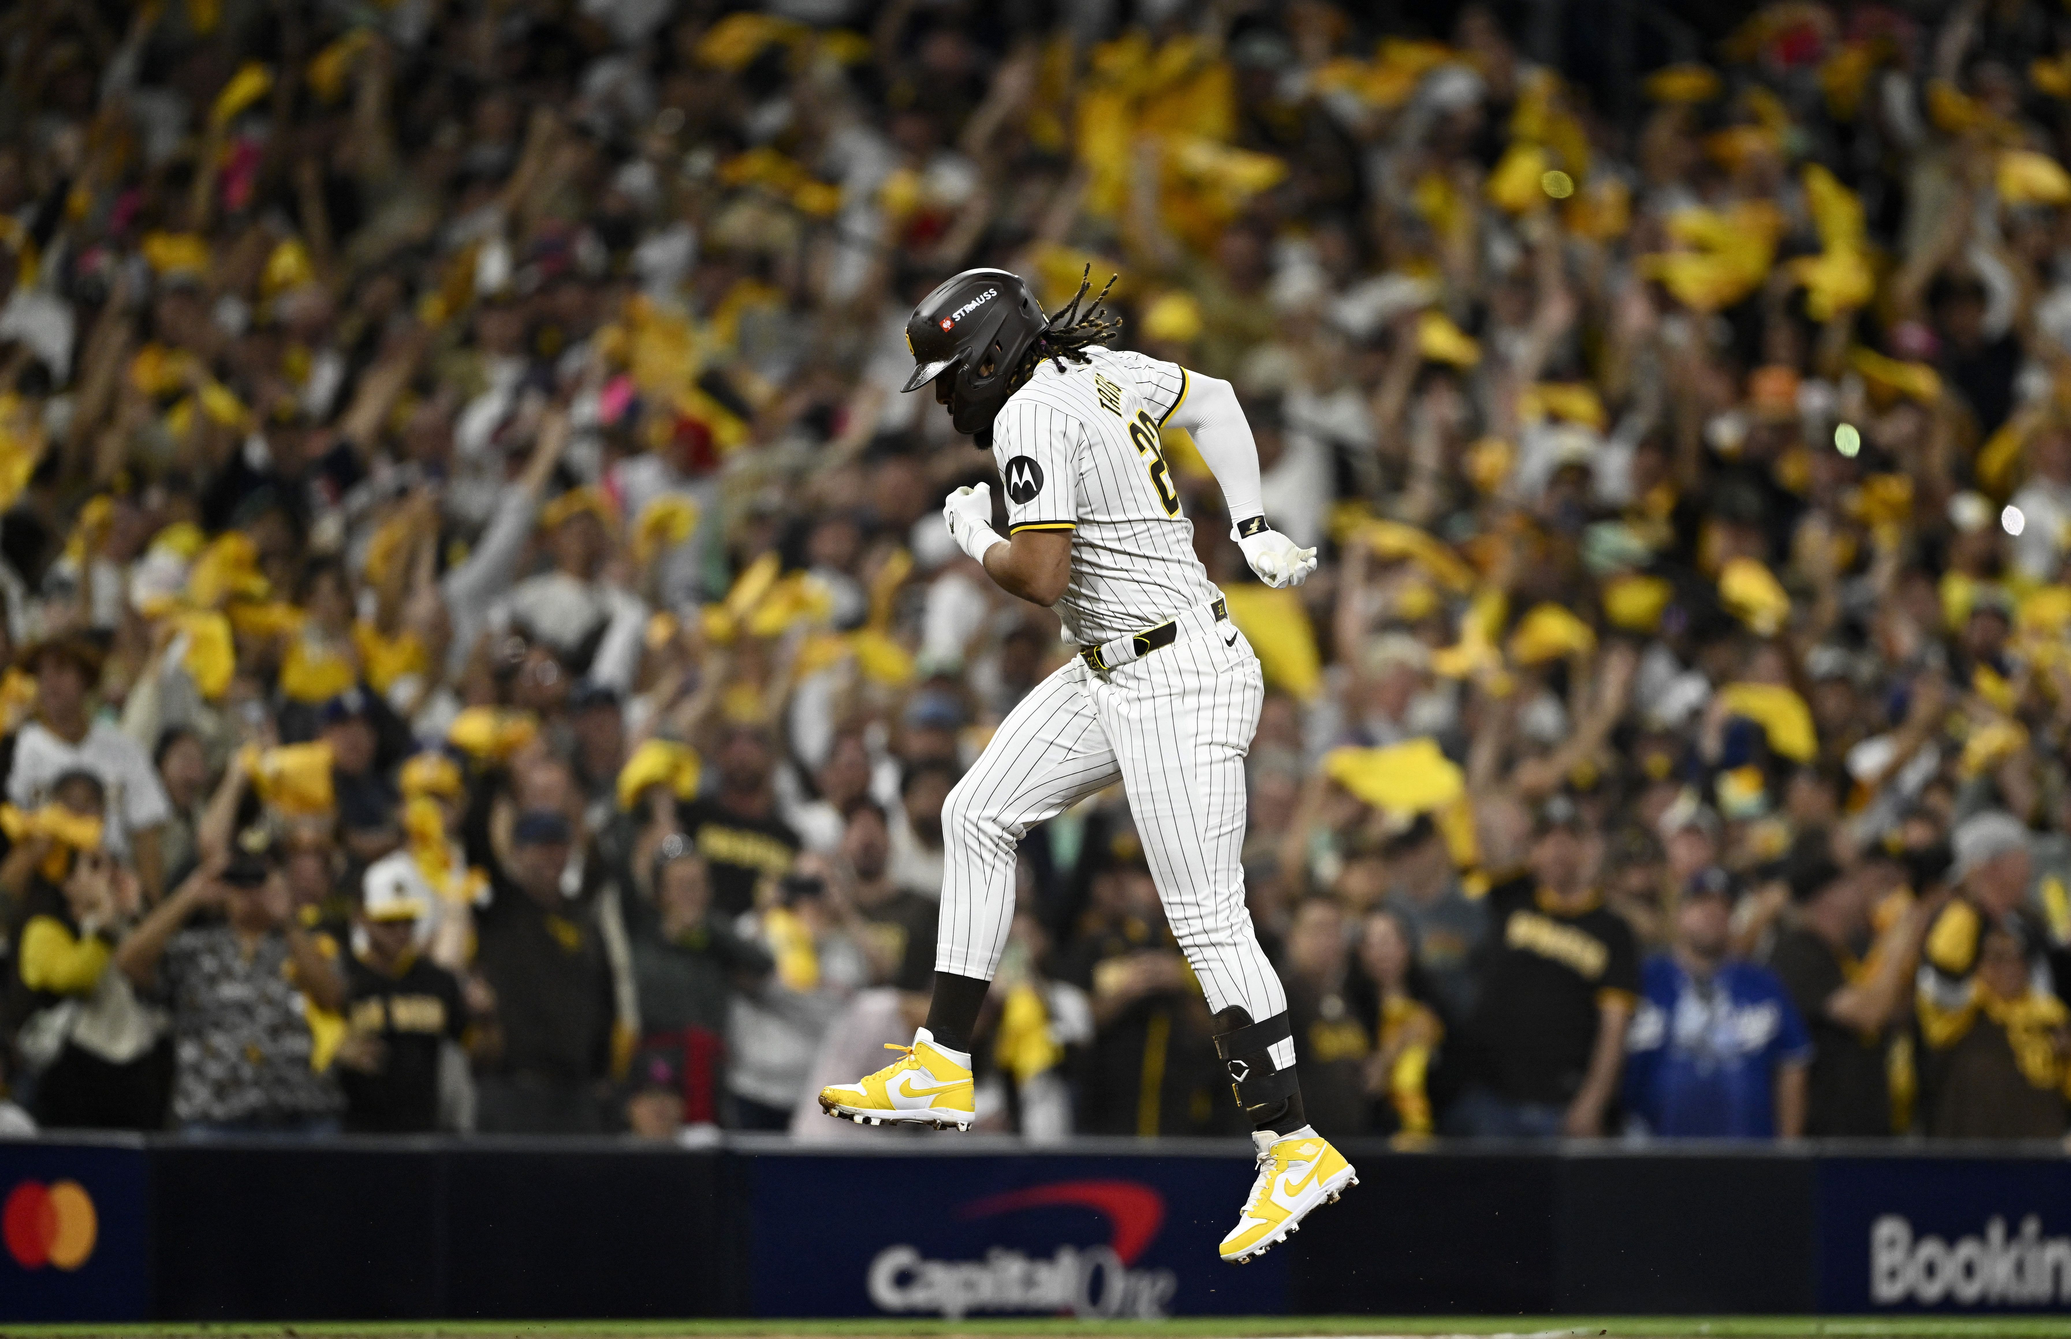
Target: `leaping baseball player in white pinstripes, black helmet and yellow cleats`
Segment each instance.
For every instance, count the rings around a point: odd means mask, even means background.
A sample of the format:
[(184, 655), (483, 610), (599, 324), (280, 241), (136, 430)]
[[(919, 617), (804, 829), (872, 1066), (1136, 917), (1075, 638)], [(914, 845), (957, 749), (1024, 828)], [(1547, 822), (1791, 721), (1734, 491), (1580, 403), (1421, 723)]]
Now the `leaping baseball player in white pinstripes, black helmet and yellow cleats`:
[(893, 1066), (820, 1091), (828, 1115), (967, 1130), (971, 1031), (1015, 911), (1015, 846), (1036, 824), (1120, 780), (1166, 919), (1207, 993), (1216, 1051), (1251, 1120), (1257, 1178), (1222, 1258), (1245, 1262), (1359, 1184), (1303, 1115), (1286, 993), (1245, 906), (1245, 753), (1263, 683), (1193, 555), (1193, 522), (1158, 447), (1187, 428), (1216, 472), (1230, 538), (1270, 586), (1299, 586), (1315, 548), (1274, 530), (1259, 457), (1230, 383), (1102, 348), (1100, 300), (1044, 317), (1004, 269), (969, 269), (907, 319), (913, 377), (992, 451), (992, 488), (957, 488), (949, 532), (1009, 594), (1048, 604), (1079, 654), (1000, 722), (942, 805), (944, 877), (928, 1024)]

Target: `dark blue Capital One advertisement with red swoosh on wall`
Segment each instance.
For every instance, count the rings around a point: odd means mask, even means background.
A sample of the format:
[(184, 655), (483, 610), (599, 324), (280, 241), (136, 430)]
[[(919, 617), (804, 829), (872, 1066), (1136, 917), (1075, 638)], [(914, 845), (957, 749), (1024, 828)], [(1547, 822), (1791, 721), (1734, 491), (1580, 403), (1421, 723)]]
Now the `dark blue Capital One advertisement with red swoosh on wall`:
[(814, 1157), (750, 1167), (758, 1316), (1286, 1310), (1286, 1250), (1232, 1269), (1253, 1165), (1230, 1157)]

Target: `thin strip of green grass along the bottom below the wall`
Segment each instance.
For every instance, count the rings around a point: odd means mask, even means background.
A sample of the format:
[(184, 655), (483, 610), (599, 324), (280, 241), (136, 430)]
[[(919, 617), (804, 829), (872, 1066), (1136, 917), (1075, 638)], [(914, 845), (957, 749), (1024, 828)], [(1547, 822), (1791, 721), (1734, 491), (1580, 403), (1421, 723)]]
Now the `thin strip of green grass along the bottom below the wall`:
[(1249, 1316), (1191, 1320), (412, 1320), (313, 1325), (0, 1325), (0, 1339), (752, 1339), (1027, 1335), (1238, 1339), (1535, 1335), (1553, 1339), (2071, 1339), (2071, 1316)]

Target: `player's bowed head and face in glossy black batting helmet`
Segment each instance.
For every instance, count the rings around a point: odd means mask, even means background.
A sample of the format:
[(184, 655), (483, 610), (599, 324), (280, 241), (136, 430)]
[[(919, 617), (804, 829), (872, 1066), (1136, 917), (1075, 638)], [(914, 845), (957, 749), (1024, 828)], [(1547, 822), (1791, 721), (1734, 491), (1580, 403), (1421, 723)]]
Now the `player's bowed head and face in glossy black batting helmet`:
[(1015, 368), (1048, 323), (1021, 275), (965, 269), (936, 286), (907, 317), (907, 348), (917, 366), (905, 389), (917, 391), (953, 370), (951, 422), (978, 437), (1007, 404)]

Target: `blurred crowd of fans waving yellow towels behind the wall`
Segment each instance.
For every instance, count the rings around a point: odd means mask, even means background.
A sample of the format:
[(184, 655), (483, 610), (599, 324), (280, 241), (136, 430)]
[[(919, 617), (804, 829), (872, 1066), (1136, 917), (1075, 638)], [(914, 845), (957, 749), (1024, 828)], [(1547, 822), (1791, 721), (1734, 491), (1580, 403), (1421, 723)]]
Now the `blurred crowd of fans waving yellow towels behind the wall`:
[[(0, 1130), (886, 1138), (812, 1093), (1073, 654), (899, 389), (1000, 265), (1323, 546), (1168, 437), (1321, 1132), (2063, 1136), (2071, 19), (1433, 12), (0, 14)], [(1125, 799), (1017, 877), (980, 1126), (1241, 1130)]]

